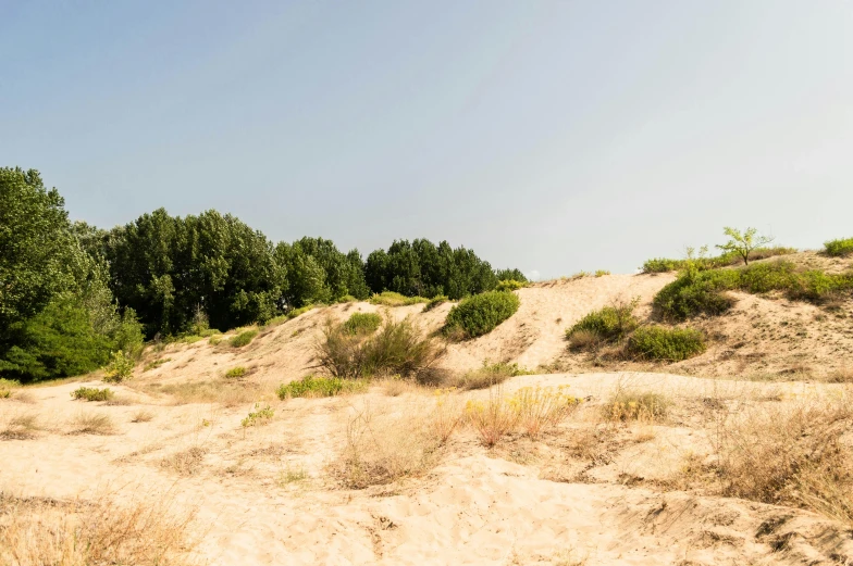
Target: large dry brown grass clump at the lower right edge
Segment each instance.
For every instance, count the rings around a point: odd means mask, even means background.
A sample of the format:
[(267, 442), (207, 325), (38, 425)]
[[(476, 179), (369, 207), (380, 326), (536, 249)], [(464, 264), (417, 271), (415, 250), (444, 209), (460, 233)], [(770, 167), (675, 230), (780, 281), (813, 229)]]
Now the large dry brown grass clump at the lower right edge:
[(849, 400), (724, 415), (712, 433), (725, 495), (787, 504), (853, 524)]

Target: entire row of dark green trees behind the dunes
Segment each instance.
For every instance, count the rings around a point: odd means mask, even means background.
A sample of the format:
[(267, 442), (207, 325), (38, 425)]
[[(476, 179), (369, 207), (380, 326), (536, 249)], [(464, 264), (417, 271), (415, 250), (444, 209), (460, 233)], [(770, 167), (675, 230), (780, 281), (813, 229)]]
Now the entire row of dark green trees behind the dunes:
[(36, 171), (0, 169), (0, 376), (79, 374), (141, 336), (227, 330), (385, 290), (460, 299), (526, 280), (466, 248), (395, 241), (364, 261), (323, 238), (274, 244), (230, 214), (164, 209), (104, 230), (71, 223)]

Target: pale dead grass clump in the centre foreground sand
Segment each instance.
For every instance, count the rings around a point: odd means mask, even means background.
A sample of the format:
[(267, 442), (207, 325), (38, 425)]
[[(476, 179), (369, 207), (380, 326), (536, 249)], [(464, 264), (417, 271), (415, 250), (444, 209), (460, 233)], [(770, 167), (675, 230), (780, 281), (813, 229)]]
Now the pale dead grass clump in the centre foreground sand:
[(387, 414), (366, 403), (347, 422), (337, 476), (350, 489), (417, 476), (433, 465), (437, 448), (419, 411)]

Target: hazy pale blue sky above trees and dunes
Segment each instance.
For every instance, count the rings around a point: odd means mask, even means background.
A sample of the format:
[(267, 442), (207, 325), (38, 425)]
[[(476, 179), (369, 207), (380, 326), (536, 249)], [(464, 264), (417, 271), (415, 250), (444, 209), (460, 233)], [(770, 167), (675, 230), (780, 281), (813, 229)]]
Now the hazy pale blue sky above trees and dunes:
[(534, 278), (853, 236), (845, 0), (0, 0), (0, 166), (99, 227), (473, 249)]

